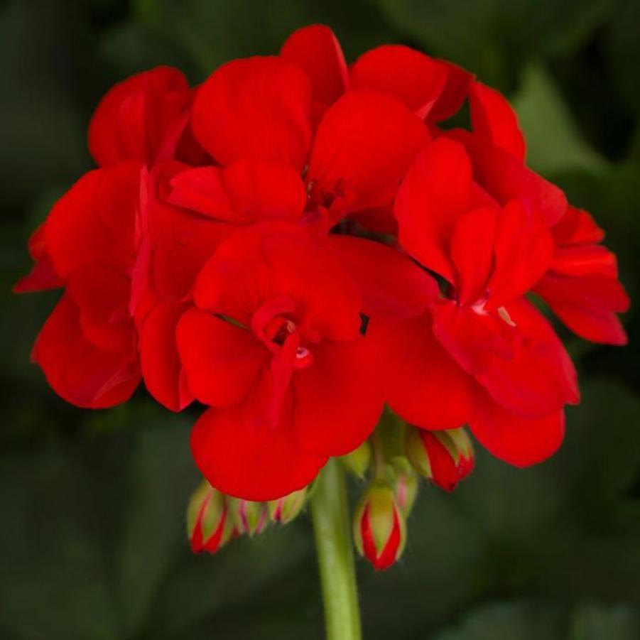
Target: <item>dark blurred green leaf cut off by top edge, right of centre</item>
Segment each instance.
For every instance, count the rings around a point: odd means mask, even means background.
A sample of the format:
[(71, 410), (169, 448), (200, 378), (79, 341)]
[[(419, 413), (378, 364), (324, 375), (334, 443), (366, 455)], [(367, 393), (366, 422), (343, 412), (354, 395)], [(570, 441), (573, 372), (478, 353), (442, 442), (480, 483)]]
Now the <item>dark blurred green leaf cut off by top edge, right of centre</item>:
[(506, 89), (526, 61), (570, 55), (613, 0), (374, 0), (406, 38)]

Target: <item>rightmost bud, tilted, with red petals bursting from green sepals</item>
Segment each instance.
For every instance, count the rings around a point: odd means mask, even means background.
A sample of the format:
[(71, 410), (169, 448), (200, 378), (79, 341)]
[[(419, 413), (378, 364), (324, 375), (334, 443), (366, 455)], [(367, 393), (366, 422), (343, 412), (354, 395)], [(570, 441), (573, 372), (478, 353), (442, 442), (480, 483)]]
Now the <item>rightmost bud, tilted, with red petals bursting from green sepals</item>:
[(406, 452), (418, 473), (451, 492), (474, 467), (473, 445), (463, 428), (445, 431), (409, 429)]

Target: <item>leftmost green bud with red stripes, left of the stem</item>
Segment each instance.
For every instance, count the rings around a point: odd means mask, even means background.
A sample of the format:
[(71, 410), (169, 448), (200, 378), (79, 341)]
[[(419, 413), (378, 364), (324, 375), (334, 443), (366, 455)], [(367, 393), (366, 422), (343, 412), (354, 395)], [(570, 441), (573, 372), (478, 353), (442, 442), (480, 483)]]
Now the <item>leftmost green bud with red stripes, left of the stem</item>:
[(216, 551), (231, 538), (227, 498), (206, 480), (192, 495), (187, 509), (187, 533), (195, 553)]

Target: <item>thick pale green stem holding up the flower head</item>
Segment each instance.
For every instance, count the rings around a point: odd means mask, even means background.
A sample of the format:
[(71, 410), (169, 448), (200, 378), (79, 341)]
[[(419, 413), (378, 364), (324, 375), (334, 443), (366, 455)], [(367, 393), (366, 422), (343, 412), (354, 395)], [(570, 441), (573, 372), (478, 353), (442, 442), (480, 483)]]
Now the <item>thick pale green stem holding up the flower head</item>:
[(360, 640), (360, 612), (345, 474), (332, 459), (320, 472), (311, 498), (320, 565), (327, 640)]

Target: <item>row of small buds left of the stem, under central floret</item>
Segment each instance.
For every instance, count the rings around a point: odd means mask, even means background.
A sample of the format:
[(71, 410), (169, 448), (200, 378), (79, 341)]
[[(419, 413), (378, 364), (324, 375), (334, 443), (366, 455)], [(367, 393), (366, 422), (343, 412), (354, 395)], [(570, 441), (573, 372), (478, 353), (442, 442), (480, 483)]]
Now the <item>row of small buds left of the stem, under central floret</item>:
[(270, 522), (291, 522), (305, 506), (307, 489), (271, 502), (224, 495), (206, 480), (192, 494), (187, 509), (187, 534), (195, 553), (216, 553), (239, 536), (256, 536)]

